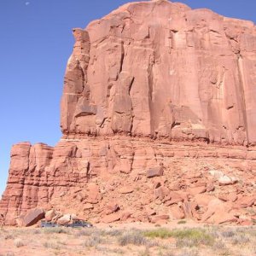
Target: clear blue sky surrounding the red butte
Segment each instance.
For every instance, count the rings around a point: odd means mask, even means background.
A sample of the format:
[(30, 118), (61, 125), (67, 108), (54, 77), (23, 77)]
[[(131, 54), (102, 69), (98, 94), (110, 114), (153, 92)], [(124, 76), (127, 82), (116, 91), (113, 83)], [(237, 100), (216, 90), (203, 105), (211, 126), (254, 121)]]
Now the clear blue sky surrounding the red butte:
[[(14, 143), (55, 145), (73, 27), (85, 27), (127, 0), (0, 0), (0, 195)], [(180, 0), (191, 8), (256, 22), (255, 0)]]

